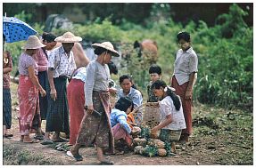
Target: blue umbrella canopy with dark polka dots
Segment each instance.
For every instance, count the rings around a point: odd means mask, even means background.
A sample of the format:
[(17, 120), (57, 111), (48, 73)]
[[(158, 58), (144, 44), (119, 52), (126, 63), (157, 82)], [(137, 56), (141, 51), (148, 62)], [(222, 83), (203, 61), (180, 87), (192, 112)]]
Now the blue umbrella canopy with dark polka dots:
[(12, 43), (27, 40), (29, 36), (36, 35), (37, 31), (17, 18), (4, 17), (3, 33), (6, 43)]

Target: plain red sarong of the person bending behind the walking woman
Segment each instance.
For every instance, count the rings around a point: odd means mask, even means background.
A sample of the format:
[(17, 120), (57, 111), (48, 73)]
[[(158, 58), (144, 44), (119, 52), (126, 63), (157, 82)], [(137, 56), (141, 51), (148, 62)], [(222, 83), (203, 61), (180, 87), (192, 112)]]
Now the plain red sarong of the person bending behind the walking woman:
[(74, 145), (78, 137), (79, 126), (85, 114), (84, 82), (72, 79), (68, 85), (68, 102), (70, 108), (70, 144)]

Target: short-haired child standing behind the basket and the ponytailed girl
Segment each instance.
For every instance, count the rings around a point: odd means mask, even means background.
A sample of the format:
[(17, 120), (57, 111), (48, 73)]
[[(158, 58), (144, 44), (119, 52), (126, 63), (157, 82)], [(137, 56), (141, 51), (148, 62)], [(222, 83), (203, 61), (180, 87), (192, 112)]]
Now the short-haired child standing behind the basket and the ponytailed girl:
[(149, 74), (150, 74), (150, 83), (147, 85), (147, 95), (148, 99), (147, 102), (157, 102), (158, 98), (153, 94), (153, 91), (151, 89), (151, 85), (153, 84), (154, 81), (158, 80), (161, 78), (161, 67), (159, 67), (156, 64), (153, 64), (149, 68)]

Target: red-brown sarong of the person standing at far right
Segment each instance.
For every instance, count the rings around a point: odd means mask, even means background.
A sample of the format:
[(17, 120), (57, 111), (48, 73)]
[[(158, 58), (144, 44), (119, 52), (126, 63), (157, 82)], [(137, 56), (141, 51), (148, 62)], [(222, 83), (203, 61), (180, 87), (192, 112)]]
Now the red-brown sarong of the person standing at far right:
[(172, 77), (171, 86), (176, 89), (175, 93), (180, 96), (181, 102), (182, 102), (182, 108), (183, 108), (183, 114), (185, 117), (186, 122), (186, 129), (182, 130), (182, 134), (188, 134), (191, 135), (192, 133), (192, 99), (186, 100), (186, 88), (187, 88), (188, 82), (185, 84), (178, 85), (178, 82), (175, 78), (175, 76)]

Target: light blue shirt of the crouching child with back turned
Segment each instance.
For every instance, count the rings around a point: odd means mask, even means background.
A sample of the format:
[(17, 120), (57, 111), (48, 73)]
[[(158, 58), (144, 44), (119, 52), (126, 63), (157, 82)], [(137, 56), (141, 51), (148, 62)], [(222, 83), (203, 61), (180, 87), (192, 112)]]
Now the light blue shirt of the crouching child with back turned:
[(111, 127), (120, 123), (121, 127), (124, 128), (126, 132), (130, 133), (131, 129), (128, 125), (127, 118), (128, 116), (124, 111), (113, 108), (111, 110)]

